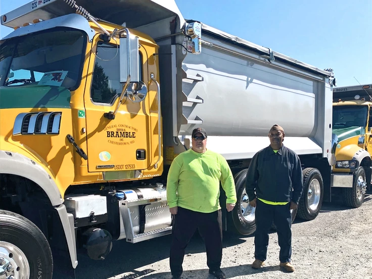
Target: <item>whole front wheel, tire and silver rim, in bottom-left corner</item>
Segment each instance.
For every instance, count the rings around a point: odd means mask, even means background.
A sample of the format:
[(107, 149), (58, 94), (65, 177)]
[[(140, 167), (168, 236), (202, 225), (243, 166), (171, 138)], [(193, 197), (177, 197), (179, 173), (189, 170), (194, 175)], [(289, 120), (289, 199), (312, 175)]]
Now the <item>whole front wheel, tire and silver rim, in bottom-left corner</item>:
[(41, 230), (30, 220), (5, 210), (0, 210), (1, 269), (5, 278), (51, 279), (53, 274), (52, 251)]

